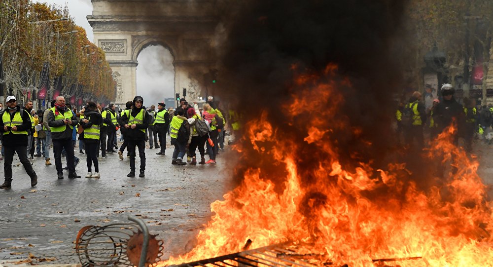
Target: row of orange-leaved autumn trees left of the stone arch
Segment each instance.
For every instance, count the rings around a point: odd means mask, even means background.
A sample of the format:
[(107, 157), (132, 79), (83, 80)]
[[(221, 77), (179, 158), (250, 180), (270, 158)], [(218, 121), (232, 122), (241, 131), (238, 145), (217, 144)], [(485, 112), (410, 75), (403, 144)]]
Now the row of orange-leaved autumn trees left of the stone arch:
[(116, 82), (105, 53), (70, 19), (67, 6), (2, 0), (0, 62), (0, 83), (7, 85), (3, 95), (8, 89), (24, 94), (43, 82), (48, 82), (51, 94), (61, 81), (61, 94), (67, 97), (95, 101), (115, 97)]

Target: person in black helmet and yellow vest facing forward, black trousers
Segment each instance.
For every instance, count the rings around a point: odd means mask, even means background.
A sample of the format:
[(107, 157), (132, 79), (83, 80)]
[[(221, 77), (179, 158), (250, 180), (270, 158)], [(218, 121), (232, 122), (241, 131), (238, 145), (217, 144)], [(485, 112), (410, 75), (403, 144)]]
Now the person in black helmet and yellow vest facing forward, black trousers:
[(132, 110), (124, 113), (118, 119), (118, 123), (128, 130), (128, 152), (130, 155), (130, 173), (127, 177), (135, 177), (135, 147), (139, 148), (141, 169), (139, 177), (145, 176), (145, 129), (149, 126), (149, 114), (143, 106), (144, 99), (141, 96), (134, 97)]

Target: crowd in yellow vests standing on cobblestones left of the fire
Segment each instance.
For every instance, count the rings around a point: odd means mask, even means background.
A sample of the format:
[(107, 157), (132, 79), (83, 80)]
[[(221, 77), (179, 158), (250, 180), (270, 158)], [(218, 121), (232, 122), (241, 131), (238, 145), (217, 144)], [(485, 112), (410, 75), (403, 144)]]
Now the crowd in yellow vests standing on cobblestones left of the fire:
[[(124, 160), (125, 150), (130, 164), (127, 177), (135, 177), (136, 147), (140, 158), (139, 177), (144, 177), (146, 142), (148, 149), (156, 149), (156, 154), (166, 155), (167, 136), (174, 146), (171, 164), (214, 164), (217, 154), (224, 149), (227, 128), (219, 102), (212, 97), (201, 108), (196, 102), (189, 104), (180, 99), (176, 109), (166, 109), (164, 103), (158, 103), (156, 109), (154, 105), (144, 107), (143, 98), (136, 96), (120, 112), (114, 104), (102, 107), (91, 101), (77, 111), (65, 103), (63, 96), (52, 101), (51, 108), (34, 111), (31, 101), (21, 107), (14, 96), (8, 96), (5, 109), (0, 103), (0, 115), (0, 159), (4, 160), (5, 174), (5, 181), (0, 186), (2, 189), (12, 186), (14, 154), (31, 178), (32, 187), (37, 184), (37, 175), (30, 159), (44, 157), (45, 165), (50, 166), (51, 149), (58, 179), (64, 179), (64, 170), (68, 171), (68, 178), (80, 178), (75, 171), (80, 161), (74, 153), (77, 139), (79, 154), (86, 155), (86, 178), (101, 177), (100, 155), (108, 157), (107, 154), (118, 153), (119, 160)], [(236, 114), (230, 112), (229, 116), (232, 118), (231, 129), (237, 130), (239, 121)], [(122, 141), (119, 148), (118, 131)], [(65, 167), (62, 157), (66, 158)]]

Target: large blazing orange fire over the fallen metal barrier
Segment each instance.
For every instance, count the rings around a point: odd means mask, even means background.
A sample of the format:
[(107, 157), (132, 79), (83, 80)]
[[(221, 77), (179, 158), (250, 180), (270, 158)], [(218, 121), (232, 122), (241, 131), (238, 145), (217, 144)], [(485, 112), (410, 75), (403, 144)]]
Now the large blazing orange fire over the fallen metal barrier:
[[(241, 185), (211, 204), (214, 216), (196, 247), (162, 265), (238, 252), (251, 239), (251, 248), (302, 242), (306, 252), (351, 267), (411, 257), (421, 258), (390, 266), (493, 266), (486, 186), (476, 173), (478, 162), (453, 145), (455, 128), (447, 128), (422, 153), (430, 162), (452, 166), (443, 168), (444, 178), (430, 173), (426, 179), (438, 182), (426, 189), (401, 162), (387, 170), (374, 170), (371, 162), (348, 169), (338, 160), (344, 148), (332, 136), (335, 129), (361, 131), (340, 110), (345, 100), (338, 88), (347, 86), (350, 80), (340, 78), (334, 65), (319, 76), (296, 78), (292, 102), (280, 111), (290, 113), (290, 125), (305, 133), (304, 140), (285, 138), (266, 112), (247, 122), (243, 144), (251, 147), (237, 149), (272, 161), (278, 171), (246, 171)], [(307, 148), (316, 150), (317, 168), (300, 166)]]

